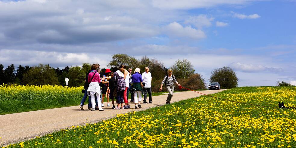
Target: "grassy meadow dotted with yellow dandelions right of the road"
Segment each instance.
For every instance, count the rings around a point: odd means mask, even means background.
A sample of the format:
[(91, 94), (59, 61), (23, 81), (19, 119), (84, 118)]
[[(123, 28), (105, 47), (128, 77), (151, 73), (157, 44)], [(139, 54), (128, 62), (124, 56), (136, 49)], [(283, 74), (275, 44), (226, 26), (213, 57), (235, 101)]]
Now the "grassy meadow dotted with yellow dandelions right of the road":
[(119, 114), (8, 147), (295, 147), (296, 87), (241, 87)]

